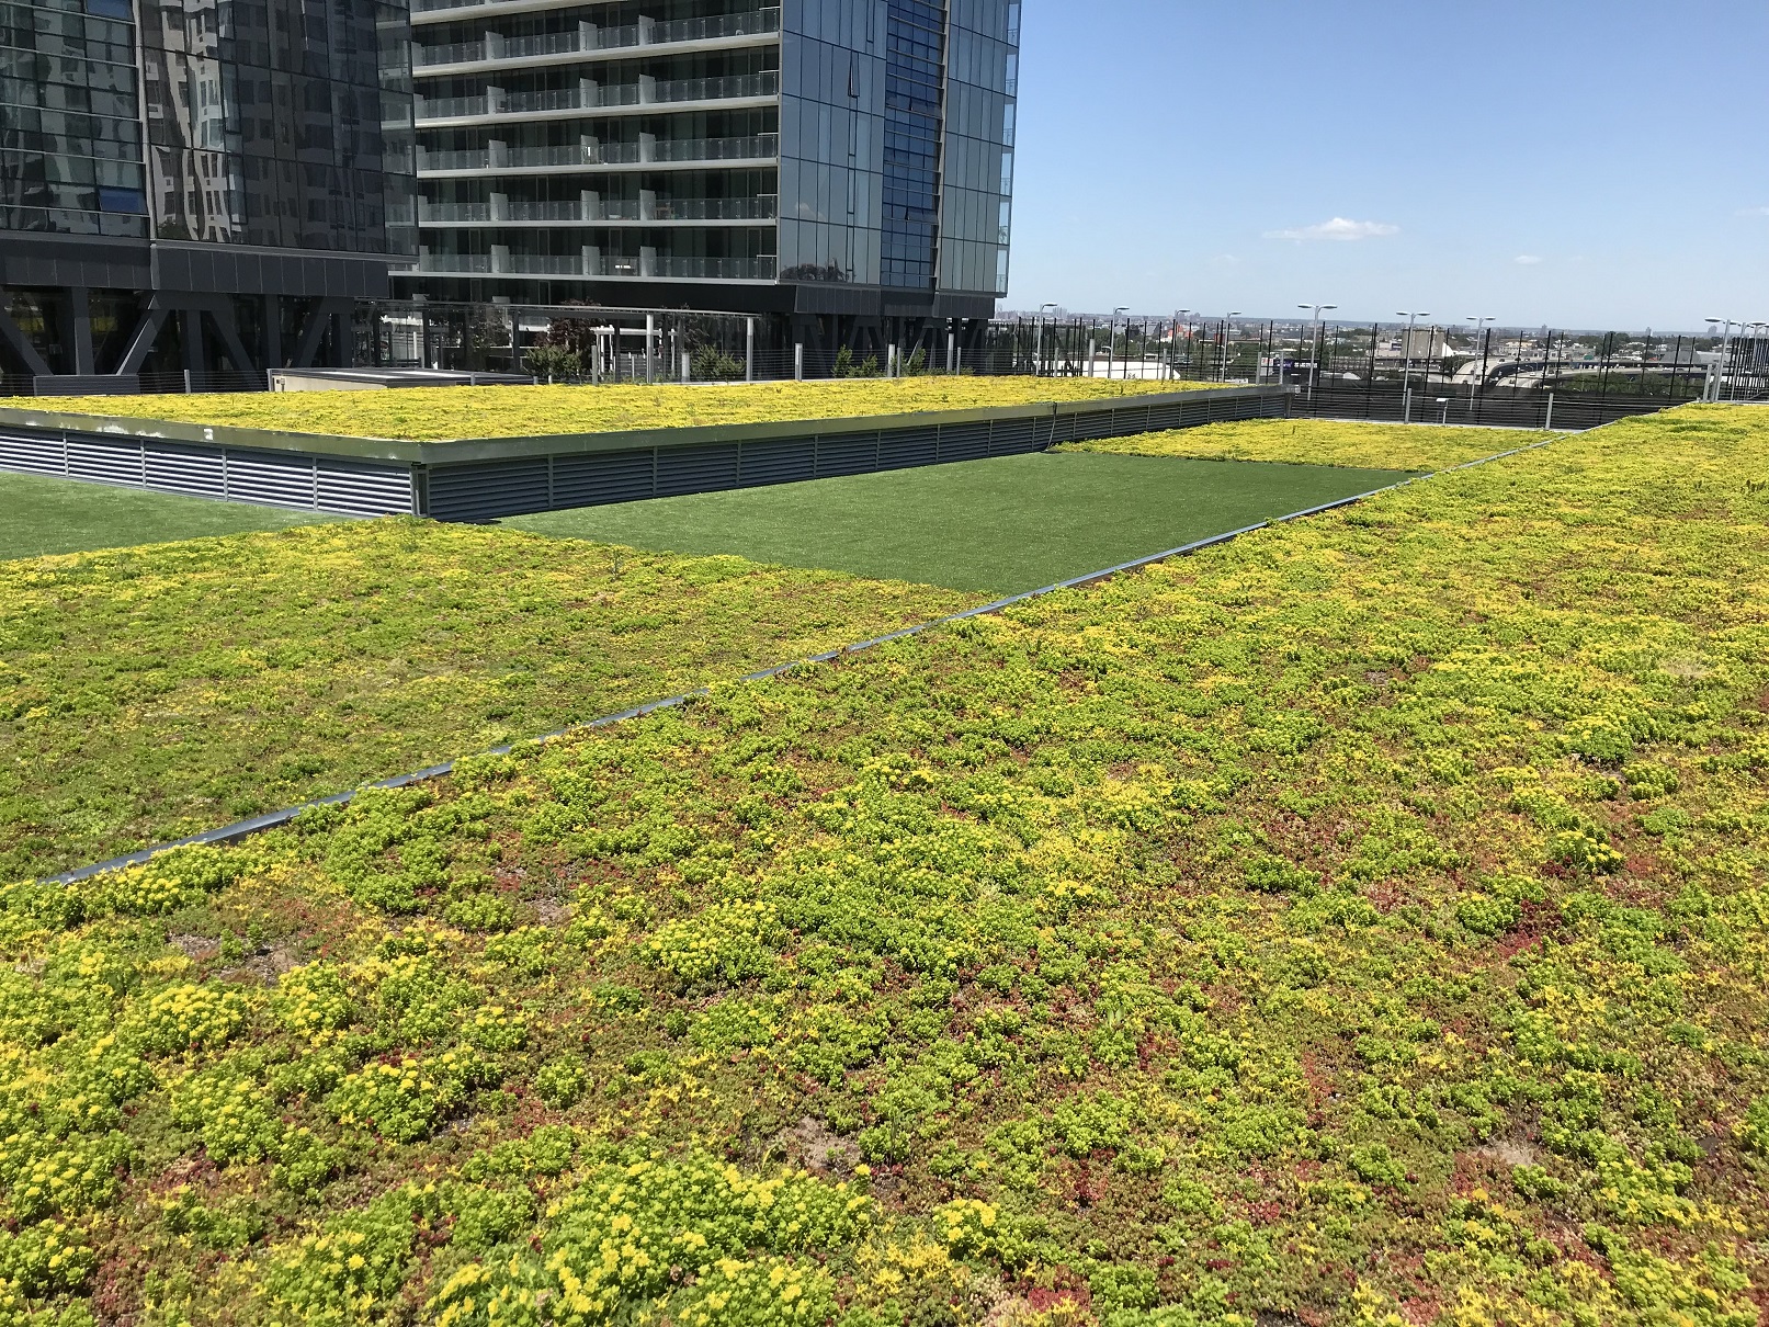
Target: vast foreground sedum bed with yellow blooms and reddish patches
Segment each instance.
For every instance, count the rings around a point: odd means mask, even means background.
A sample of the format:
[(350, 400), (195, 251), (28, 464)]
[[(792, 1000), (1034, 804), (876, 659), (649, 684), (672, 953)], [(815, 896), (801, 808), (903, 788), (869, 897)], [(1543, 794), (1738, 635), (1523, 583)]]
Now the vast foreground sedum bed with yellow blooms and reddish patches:
[(4, 1313), (1750, 1327), (1765, 442), (5, 888)]

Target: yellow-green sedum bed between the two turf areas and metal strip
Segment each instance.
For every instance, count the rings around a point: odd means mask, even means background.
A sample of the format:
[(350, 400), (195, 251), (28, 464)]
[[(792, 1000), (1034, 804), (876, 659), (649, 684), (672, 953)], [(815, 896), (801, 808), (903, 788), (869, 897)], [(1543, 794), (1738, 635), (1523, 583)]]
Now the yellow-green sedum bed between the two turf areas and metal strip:
[(416, 520), (0, 563), (0, 879), (982, 598)]

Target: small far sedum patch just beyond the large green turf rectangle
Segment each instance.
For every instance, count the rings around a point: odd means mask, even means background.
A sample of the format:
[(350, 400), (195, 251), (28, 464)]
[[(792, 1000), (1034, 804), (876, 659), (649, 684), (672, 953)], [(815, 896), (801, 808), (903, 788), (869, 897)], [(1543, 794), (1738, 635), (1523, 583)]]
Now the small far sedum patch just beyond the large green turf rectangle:
[(1551, 437), (1555, 433), (1521, 428), (1442, 428), (1438, 425), (1375, 425), (1344, 419), (1247, 419), (1245, 423), (1205, 425), (1166, 433), (1065, 442), (1056, 451), (1442, 471)]

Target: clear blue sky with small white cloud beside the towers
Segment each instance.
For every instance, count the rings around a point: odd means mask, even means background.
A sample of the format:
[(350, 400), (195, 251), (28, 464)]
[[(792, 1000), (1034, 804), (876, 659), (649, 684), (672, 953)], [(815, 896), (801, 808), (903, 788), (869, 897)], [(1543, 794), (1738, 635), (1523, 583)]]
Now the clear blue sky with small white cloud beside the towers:
[(1769, 318), (1765, 0), (1026, 0), (1003, 308)]

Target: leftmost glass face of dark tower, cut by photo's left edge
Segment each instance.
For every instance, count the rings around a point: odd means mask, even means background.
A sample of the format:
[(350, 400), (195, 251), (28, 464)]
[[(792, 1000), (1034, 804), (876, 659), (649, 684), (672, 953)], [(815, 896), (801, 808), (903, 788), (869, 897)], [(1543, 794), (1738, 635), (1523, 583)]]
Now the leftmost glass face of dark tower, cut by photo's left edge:
[(0, 228), (147, 237), (131, 12), (0, 4)]

